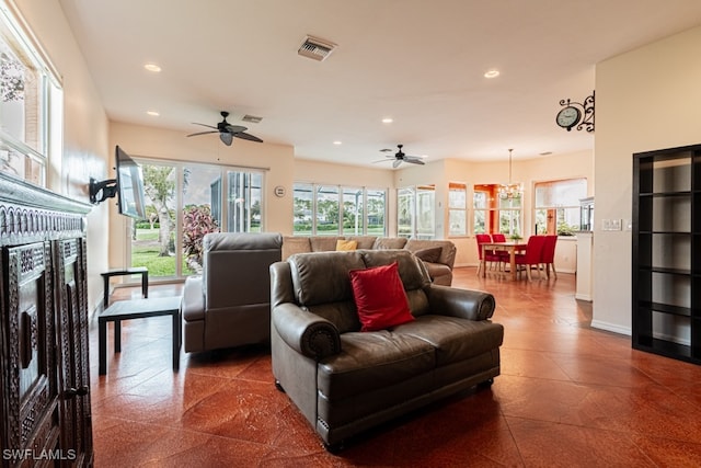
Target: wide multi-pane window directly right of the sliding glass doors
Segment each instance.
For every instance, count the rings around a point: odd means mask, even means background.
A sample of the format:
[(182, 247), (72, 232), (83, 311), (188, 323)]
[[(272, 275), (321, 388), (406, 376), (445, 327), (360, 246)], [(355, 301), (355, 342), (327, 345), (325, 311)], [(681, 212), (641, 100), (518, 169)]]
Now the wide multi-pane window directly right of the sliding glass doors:
[(384, 236), (387, 191), (295, 183), (295, 236)]

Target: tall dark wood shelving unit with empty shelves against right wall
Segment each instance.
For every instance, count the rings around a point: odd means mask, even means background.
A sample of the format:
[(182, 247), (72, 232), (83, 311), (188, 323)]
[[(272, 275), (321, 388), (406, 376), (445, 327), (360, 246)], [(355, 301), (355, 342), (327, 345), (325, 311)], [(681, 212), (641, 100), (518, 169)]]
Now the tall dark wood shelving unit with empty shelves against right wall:
[(701, 364), (701, 145), (633, 155), (633, 347)]

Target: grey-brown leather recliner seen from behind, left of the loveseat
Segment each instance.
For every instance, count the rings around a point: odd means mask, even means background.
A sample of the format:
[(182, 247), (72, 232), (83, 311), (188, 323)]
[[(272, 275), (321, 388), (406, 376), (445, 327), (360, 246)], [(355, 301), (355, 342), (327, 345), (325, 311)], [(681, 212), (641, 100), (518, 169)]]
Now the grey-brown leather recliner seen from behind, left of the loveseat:
[(186, 352), (269, 341), (268, 269), (281, 246), (279, 233), (205, 236), (203, 274), (185, 281), (181, 303)]

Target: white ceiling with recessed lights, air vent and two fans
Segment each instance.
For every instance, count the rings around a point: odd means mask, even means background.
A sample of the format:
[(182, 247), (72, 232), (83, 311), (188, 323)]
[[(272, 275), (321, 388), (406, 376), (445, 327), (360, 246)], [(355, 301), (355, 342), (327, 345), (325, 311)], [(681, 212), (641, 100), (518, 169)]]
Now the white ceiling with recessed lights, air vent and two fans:
[[(429, 160), (591, 149), (555, 125), (560, 100), (591, 94), (598, 61), (701, 24), (699, 0), (59, 1), (112, 121), (185, 138), (226, 110), (298, 158), (352, 164), (399, 142)], [(308, 34), (337, 48), (300, 57)]]

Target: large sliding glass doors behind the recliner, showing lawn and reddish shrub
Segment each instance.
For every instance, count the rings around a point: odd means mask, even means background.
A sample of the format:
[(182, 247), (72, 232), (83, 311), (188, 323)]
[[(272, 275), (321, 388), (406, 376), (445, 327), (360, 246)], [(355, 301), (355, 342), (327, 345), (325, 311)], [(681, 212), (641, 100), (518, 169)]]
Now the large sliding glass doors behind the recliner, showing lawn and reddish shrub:
[(147, 266), (149, 276), (197, 273), (202, 239), (208, 232), (262, 230), (263, 172), (165, 160), (138, 162), (148, 219), (131, 220), (130, 265)]

